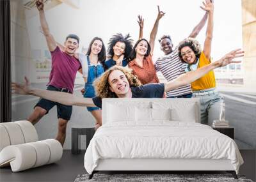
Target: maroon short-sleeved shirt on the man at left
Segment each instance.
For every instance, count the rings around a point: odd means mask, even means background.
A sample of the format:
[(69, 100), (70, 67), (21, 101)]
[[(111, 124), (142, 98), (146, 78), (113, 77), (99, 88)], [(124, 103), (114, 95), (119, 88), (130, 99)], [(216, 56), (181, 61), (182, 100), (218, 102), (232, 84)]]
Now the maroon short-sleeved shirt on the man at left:
[(51, 55), (52, 70), (47, 85), (66, 88), (73, 93), (76, 72), (81, 68), (81, 63), (75, 57), (62, 52), (58, 46)]

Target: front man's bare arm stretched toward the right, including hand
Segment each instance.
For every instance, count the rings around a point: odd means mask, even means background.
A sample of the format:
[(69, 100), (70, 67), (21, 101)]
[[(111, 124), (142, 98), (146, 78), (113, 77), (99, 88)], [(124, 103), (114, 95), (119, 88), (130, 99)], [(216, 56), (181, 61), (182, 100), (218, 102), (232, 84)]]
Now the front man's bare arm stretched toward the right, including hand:
[(241, 49), (232, 50), (231, 52), (223, 56), (218, 61), (208, 64), (207, 66), (199, 68), (195, 71), (191, 71), (186, 74), (180, 75), (180, 77), (178, 77), (177, 79), (174, 79), (164, 84), (164, 91), (167, 92), (173, 89), (177, 89), (178, 87), (181, 87), (181, 86), (186, 86), (191, 82), (204, 76), (206, 73), (210, 72), (211, 70), (214, 70), (215, 68), (226, 66), (227, 64), (230, 64), (230, 63), (240, 63), (241, 61), (232, 61), (232, 60), (236, 57), (242, 57), (243, 53), (244, 52), (241, 51)]

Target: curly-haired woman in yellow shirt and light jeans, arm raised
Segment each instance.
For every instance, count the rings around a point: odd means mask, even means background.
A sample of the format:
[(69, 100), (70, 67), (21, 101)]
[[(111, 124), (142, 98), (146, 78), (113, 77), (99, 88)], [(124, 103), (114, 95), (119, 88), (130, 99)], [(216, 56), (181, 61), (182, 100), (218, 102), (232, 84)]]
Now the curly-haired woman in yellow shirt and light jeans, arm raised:
[[(179, 43), (179, 57), (181, 61), (188, 63), (186, 72), (196, 70), (211, 63), (211, 42), (213, 29), (213, 3), (205, 0), (201, 8), (208, 12), (207, 33), (204, 42), (204, 50), (193, 38), (187, 38)], [(220, 116), (220, 103), (223, 98), (215, 89), (214, 72), (211, 71), (195, 82), (191, 83), (194, 98), (200, 98), (201, 123), (212, 125), (214, 119)]]

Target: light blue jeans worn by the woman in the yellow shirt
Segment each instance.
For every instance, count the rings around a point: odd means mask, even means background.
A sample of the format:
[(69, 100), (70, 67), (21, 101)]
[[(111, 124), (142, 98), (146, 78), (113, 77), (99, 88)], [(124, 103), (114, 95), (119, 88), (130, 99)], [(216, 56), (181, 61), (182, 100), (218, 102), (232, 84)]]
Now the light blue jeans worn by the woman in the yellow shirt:
[(212, 126), (213, 120), (220, 119), (220, 103), (223, 97), (215, 89), (193, 91), (193, 98), (200, 98), (201, 123)]

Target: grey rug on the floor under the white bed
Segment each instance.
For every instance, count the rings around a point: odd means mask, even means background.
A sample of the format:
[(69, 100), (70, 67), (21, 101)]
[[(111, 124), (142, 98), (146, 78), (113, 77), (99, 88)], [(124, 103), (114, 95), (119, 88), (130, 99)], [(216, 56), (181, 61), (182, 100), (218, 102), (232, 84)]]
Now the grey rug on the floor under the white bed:
[(93, 182), (93, 181), (171, 181), (171, 182), (190, 182), (190, 181), (209, 181), (209, 182), (229, 182), (243, 181), (253, 182), (251, 179), (246, 179), (244, 176), (238, 176), (239, 179), (234, 179), (232, 174), (94, 174), (92, 179), (88, 179), (89, 174), (78, 175), (74, 182)]

